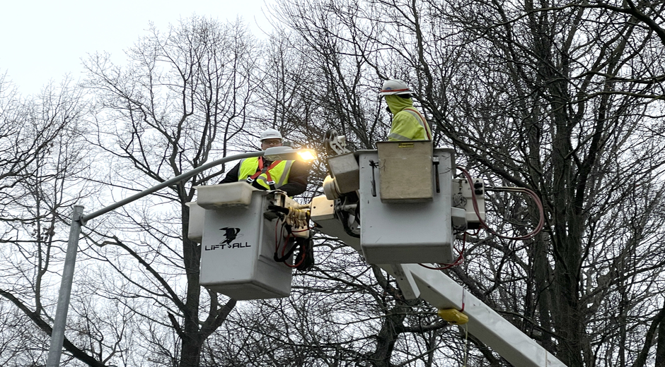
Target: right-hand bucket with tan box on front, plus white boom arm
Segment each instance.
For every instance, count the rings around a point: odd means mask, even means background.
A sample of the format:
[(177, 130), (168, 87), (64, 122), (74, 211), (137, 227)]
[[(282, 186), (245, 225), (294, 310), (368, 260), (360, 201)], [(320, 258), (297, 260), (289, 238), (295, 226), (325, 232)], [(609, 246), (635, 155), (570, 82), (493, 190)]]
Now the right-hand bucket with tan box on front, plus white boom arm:
[[(484, 220), (482, 181), (453, 180), (454, 152), (432, 150), (429, 142), (380, 142), (377, 145), (378, 152), (367, 150), (328, 158), (331, 176), (324, 181), (326, 196), (314, 198), (312, 202), (311, 217), (320, 226), (319, 230), (336, 236), (364, 255), (369, 263), (395, 277), (407, 299), (420, 296), (439, 310), (463, 310), (468, 317), (468, 332), (514, 366), (565, 367), (490, 306), (465, 292), (444, 272), (418, 264), (452, 262), (452, 227), (475, 227), (478, 221), (473, 219), (478, 219), (478, 214)], [(428, 150), (432, 155), (427, 156)], [(357, 160), (357, 166), (349, 163), (351, 156)], [(345, 164), (337, 162), (342, 160)], [(355, 177), (356, 174), (349, 172), (354, 169), (359, 176), (357, 186), (348, 188), (346, 182), (338, 182)], [(423, 177), (424, 182), (414, 184)], [(480, 198), (478, 214), (470, 209), (472, 205), (468, 200), (471, 196), (468, 191), (473, 190)], [(403, 194), (403, 191), (410, 193)], [(456, 195), (463, 198), (463, 205), (452, 205)], [(349, 196), (357, 197), (360, 206), (358, 212), (362, 220), (356, 233), (349, 231), (354, 227), (352, 224), (344, 222), (349, 215), (339, 209)], [(349, 207), (349, 203), (345, 206)], [(409, 234), (410, 239), (403, 239), (402, 233)]]

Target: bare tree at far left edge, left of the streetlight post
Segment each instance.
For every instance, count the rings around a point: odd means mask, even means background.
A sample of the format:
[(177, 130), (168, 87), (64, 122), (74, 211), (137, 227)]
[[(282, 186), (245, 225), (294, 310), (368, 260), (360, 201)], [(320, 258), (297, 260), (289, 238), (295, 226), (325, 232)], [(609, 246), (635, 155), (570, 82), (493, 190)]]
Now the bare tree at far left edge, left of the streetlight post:
[[(57, 291), (51, 275), (62, 270), (68, 232), (64, 218), (74, 203), (93, 191), (81, 181), (90, 168), (81, 139), (85, 103), (81, 90), (72, 88), (67, 79), (59, 87), (48, 85), (40, 95), (25, 98), (16, 90), (4, 89), (8, 83), (0, 84), (0, 160), (4, 162), (0, 168), (0, 295), (3, 307), (11, 310), (7, 315), (20, 315), (7, 319), (21, 322), (10, 333), (23, 335), (3, 354), (3, 362), (37, 366), (45, 359), (52, 331)], [(94, 365), (69, 339), (64, 344)]]

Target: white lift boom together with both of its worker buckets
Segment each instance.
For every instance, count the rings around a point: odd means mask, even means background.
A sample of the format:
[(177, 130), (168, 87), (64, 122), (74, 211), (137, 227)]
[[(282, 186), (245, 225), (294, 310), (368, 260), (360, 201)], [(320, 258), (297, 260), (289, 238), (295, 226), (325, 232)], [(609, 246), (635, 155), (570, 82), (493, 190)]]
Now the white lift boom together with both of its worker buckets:
[[(453, 227), (473, 227), (485, 216), (482, 180), (452, 179), (453, 150), (421, 141), (350, 152), (334, 132), (326, 133), (325, 144), (331, 175), (323, 182), (325, 195), (307, 205), (319, 231), (395, 277), (407, 299), (463, 313), (468, 331), (514, 366), (565, 367), (444, 272), (419, 265), (452, 263)], [(190, 203), (189, 233), (205, 249), (202, 285), (236, 299), (288, 296), (292, 270), (272, 259), (276, 241), (285, 241), (275, 229), (286, 218), (271, 215), (270, 207), (297, 211), (303, 205), (242, 182), (199, 189), (199, 201)], [(294, 233), (304, 236), (305, 230)]]

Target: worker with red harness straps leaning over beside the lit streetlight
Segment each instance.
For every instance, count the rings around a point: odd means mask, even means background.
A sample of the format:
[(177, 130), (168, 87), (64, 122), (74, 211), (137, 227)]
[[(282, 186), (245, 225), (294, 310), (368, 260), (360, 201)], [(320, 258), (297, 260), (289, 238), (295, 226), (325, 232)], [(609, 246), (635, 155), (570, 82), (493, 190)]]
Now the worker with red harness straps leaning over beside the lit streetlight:
[[(261, 150), (282, 146), (282, 134), (274, 128), (260, 136)], [(226, 174), (220, 183), (247, 181), (260, 190), (282, 190), (289, 196), (299, 195), (307, 188), (309, 167), (292, 160), (270, 161), (264, 157), (241, 160)]]

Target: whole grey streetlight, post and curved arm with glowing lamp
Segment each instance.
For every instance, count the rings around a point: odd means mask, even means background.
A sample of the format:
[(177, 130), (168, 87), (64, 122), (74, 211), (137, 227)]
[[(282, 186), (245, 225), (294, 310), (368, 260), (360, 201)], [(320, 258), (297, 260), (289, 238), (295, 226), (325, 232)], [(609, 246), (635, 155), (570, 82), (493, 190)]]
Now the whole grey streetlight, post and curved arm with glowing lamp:
[(67, 323), (67, 311), (69, 311), (69, 296), (71, 295), (71, 283), (74, 279), (74, 265), (76, 264), (76, 251), (79, 248), (79, 236), (81, 235), (81, 227), (86, 225), (88, 220), (99, 217), (111, 210), (115, 210), (122, 205), (132, 203), (134, 200), (143, 198), (146, 195), (154, 193), (155, 191), (173, 185), (180, 181), (189, 179), (195, 174), (218, 166), (219, 164), (226, 163), (232, 160), (242, 160), (250, 157), (264, 156), (271, 160), (296, 160), (303, 152), (311, 152), (311, 150), (301, 149), (294, 150), (289, 147), (272, 147), (267, 148), (265, 151), (241, 153), (237, 155), (230, 155), (228, 157), (215, 160), (201, 167), (192, 169), (190, 172), (185, 172), (180, 176), (173, 179), (164, 181), (156, 186), (148, 188), (136, 195), (129, 196), (124, 200), (120, 200), (115, 204), (108, 205), (103, 209), (91, 213), (90, 215), (83, 215), (83, 206), (75, 205), (74, 213), (71, 216), (71, 224), (69, 227), (69, 240), (67, 241), (67, 254), (64, 258), (64, 269), (62, 270), (62, 281), (60, 282), (60, 291), (58, 294), (58, 303), (55, 310), (55, 318), (53, 320), (53, 330), (51, 332), (51, 345), (49, 348), (49, 355), (46, 362), (47, 367), (58, 367), (60, 364), (60, 355), (62, 354), (62, 343), (64, 342), (64, 329)]

